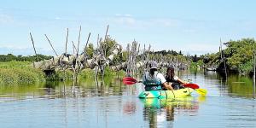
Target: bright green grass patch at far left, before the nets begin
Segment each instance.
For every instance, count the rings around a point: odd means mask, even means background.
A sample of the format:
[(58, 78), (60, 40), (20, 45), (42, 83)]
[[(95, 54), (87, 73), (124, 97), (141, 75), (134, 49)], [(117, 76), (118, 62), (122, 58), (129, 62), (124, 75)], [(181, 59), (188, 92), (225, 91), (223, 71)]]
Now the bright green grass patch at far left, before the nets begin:
[(0, 62), (0, 84), (32, 84), (45, 81), (44, 72), (29, 61)]

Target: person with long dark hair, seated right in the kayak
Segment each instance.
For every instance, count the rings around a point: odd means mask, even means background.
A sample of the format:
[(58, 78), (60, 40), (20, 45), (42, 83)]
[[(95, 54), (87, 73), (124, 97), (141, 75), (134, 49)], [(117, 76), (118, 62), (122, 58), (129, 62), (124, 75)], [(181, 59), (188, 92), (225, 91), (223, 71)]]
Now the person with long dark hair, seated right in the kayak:
[(174, 90), (183, 89), (183, 84), (187, 84), (182, 79), (179, 79), (174, 73), (174, 67), (168, 67), (166, 70), (166, 82), (172, 85)]

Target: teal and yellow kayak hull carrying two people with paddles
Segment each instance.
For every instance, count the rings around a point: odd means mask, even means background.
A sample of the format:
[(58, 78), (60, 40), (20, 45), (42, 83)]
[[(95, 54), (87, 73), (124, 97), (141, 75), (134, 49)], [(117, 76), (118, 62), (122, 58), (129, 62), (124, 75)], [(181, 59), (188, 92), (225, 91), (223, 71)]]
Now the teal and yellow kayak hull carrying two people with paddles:
[(184, 88), (179, 90), (150, 90), (143, 91), (138, 96), (139, 98), (159, 98), (159, 99), (167, 99), (167, 98), (177, 98), (190, 96), (190, 94), (194, 90), (191, 88)]

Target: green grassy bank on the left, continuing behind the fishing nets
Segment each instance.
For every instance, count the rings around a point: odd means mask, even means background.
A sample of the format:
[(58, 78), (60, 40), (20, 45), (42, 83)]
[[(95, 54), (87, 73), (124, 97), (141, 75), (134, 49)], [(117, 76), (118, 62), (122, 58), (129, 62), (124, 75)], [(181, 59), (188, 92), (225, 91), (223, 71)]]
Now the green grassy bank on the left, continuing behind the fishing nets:
[[(115, 76), (117, 72), (113, 72), (107, 67), (104, 76)], [(125, 72), (119, 72), (120, 76), (124, 76)], [(66, 76), (66, 78), (65, 78)], [(98, 75), (101, 77), (101, 74)], [(94, 79), (95, 72), (92, 69), (84, 69), (79, 73), (79, 79)], [(3, 84), (35, 84), (48, 80), (73, 80), (73, 71), (67, 70), (66, 74), (63, 71), (56, 71), (51, 76), (46, 77), (44, 72), (33, 68), (30, 61), (7, 61), (0, 62), (0, 85)]]

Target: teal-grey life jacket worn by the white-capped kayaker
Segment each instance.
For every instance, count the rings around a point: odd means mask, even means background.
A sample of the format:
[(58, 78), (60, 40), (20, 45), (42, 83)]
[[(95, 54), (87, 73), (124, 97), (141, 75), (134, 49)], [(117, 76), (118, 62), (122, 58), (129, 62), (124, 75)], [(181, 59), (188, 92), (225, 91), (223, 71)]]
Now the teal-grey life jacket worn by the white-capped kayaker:
[(145, 75), (144, 79), (145, 81), (143, 81), (143, 84), (145, 84), (145, 90), (161, 90), (161, 80), (159, 78), (157, 78), (157, 74), (158, 73), (154, 73), (153, 77), (150, 77), (149, 74)]

